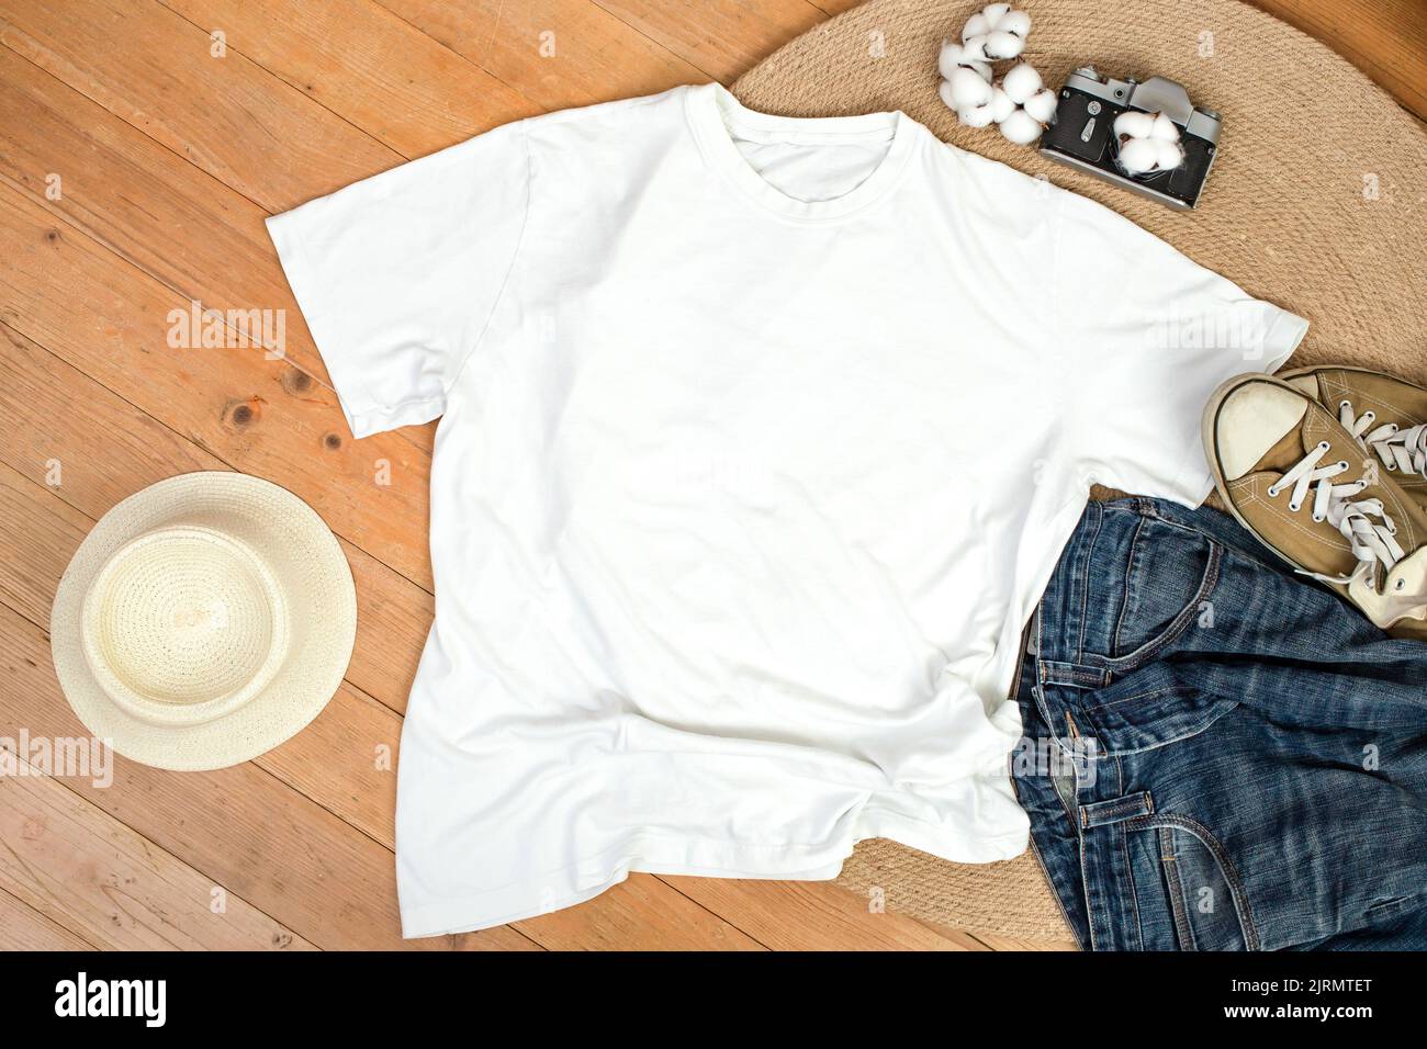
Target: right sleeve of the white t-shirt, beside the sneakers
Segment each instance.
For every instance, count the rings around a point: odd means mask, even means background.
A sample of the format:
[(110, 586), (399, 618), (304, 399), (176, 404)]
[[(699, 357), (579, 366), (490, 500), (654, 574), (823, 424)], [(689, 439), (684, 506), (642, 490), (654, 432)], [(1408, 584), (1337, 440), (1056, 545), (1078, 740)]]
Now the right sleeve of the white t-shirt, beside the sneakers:
[(1053, 334), (1073, 358), (1085, 480), (1199, 505), (1213, 490), (1200, 438), (1210, 394), (1277, 370), (1309, 323), (1110, 208), (1057, 196), (1047, 285)]

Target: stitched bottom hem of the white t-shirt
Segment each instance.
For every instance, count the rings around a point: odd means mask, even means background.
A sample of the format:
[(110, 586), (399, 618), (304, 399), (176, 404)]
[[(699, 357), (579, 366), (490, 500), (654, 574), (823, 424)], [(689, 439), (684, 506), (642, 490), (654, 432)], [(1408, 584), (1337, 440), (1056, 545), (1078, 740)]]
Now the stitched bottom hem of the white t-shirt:
[(822, 846), (758, 846), (636, 832), (619, 849), (619, 858), (606, 852), (567, 868), (571, 872), (599, 863), (601, 873), (592, 883), (542, 893), (522, 881), (467, 896), (402, 905), (401, 935), (404, 939), (444, 936), (537, 918), (594, 899), (631, 873), (825, 882), (842, 872), (853, 846), (868, 838), (890, 838), (955, 863), (992, 863), (1019, 856), (1026, 851), (1029, 836), (1029, 828), (977, 836), (948, 832), (873, 808), (863, 809), (856, 833)]

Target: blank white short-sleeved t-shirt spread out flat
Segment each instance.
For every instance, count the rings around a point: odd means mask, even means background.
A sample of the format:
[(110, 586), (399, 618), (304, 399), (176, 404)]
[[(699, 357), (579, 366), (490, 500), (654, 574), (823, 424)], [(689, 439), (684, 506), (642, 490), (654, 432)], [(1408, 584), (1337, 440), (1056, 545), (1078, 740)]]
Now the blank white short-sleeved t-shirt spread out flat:
[(444, 417), (407, 936), (870, 836), (1022, 852), (1007, 691), (1092, 478), (1197, 504), (1210, 391), (1307, 327), (905, 114), (718, 86), (268, 227), (352, 432)]

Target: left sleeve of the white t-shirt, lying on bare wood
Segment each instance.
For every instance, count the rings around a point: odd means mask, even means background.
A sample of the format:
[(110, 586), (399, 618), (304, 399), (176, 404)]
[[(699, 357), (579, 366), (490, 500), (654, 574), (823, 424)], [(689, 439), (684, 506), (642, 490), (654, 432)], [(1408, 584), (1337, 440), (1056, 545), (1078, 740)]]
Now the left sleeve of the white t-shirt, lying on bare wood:
[(445, 411), (514, 268), (525, 134), (507, 124), (267, 220), (354, 437)]

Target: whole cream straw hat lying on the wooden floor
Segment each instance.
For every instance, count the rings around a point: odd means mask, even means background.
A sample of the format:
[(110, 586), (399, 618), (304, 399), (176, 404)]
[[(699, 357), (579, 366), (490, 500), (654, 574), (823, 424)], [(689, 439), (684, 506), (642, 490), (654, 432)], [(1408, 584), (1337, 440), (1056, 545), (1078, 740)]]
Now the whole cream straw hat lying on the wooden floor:
[(357, 592), (323, 520), (244, 474), (183, 474), (110, 510), (64, 569), (54, 671), (127, 758), (198, 771), (255, 758), (341, 684)]

